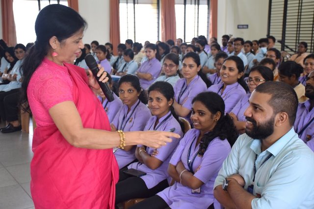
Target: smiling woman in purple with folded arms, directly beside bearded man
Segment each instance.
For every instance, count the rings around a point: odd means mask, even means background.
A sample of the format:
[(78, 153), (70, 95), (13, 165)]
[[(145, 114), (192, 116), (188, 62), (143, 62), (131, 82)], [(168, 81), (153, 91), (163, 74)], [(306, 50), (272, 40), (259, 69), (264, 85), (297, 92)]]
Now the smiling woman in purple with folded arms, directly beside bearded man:
[(213, 203), (220, 209), (213, 185), (237, 138), (235, 127), (217, 93), (200, 93), (192, 103), (195, 128), (180, 140), (168, 167), (174, 185), (130, 209), (207, 209)]

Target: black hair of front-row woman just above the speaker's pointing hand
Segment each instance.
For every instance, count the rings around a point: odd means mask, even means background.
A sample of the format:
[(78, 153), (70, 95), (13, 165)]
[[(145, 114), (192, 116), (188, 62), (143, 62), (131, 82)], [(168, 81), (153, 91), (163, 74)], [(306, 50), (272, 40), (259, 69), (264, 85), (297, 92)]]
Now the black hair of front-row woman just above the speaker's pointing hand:
[(157, 91), (161, 93), (164, 97), (166, 97), (167, 101), (172, 99), (172, 104), (169, 107), (169, 110), (171, 111), (172, 116), (174, 116), (174, 118), (176, 118), (176, 120), (179, 122), (179, 116), (176, 114), (175, 109), (173, 108), (175, 91), (173, 90), (172, 85), (165, 81), (157, 81), (149, 87), (148, 94), (151, 91)]

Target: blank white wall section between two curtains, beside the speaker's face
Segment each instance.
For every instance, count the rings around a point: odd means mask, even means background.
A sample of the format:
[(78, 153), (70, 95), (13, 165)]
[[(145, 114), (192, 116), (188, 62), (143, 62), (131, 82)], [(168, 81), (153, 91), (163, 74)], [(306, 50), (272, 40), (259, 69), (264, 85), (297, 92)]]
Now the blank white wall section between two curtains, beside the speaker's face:
[(109, 42), (109, 0), (78, 0), (78, 12), (88, 23), (83, 37), (84, 44), (90, 44), (94, 40), (102, 45)]

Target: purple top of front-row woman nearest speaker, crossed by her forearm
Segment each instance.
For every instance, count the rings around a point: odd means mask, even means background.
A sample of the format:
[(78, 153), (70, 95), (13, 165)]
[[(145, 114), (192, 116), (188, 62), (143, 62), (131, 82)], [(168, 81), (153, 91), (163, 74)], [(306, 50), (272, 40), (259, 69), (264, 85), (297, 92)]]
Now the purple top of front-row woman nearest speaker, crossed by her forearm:
[[(114, 117), (112, 124), (117, 130), (143, 131), (151, 116), (151, 111), (146, 107), (146, 105), (140, 102), (140, 100), (137, 100), (135, 104), (131, 106), (129, 113), (128, 106), (122, 105), (118, 114)], [(119, 169), (135, 160), (135, 149), (136, 146), (134, 146), (130, 151), (117, 149), (114, 152)]]

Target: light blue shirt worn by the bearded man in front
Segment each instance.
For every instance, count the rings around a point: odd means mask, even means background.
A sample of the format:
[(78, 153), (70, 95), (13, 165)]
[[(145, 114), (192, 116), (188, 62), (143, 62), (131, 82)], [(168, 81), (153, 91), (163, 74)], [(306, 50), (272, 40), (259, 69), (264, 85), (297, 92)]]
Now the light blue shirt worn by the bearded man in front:
[[(272, 157), (265, 163), (262, 162)], [(214, 188), (233, 174), (244, 178), (246, 190), (253, 181), (255, 155), (256, 177), (252, 209), (313, 209), (314, 208), (314, 153), (298, 138), (291, 128), (268, 149), (261, 152), (261, 141), (241, 135), (224, 161)]]

